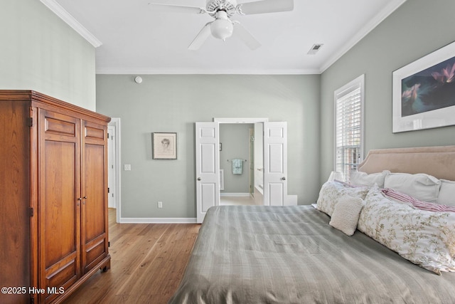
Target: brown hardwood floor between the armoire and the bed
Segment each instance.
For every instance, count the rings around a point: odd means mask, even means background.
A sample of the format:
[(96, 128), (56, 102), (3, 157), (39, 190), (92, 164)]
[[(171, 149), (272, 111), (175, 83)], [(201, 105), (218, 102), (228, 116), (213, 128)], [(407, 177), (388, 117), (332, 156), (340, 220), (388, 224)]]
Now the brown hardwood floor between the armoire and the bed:
[(167, 303), (180, 283), (199, 224), (117, 224), (109, 209), (111, 269), (98, 272), (65, 304)]

